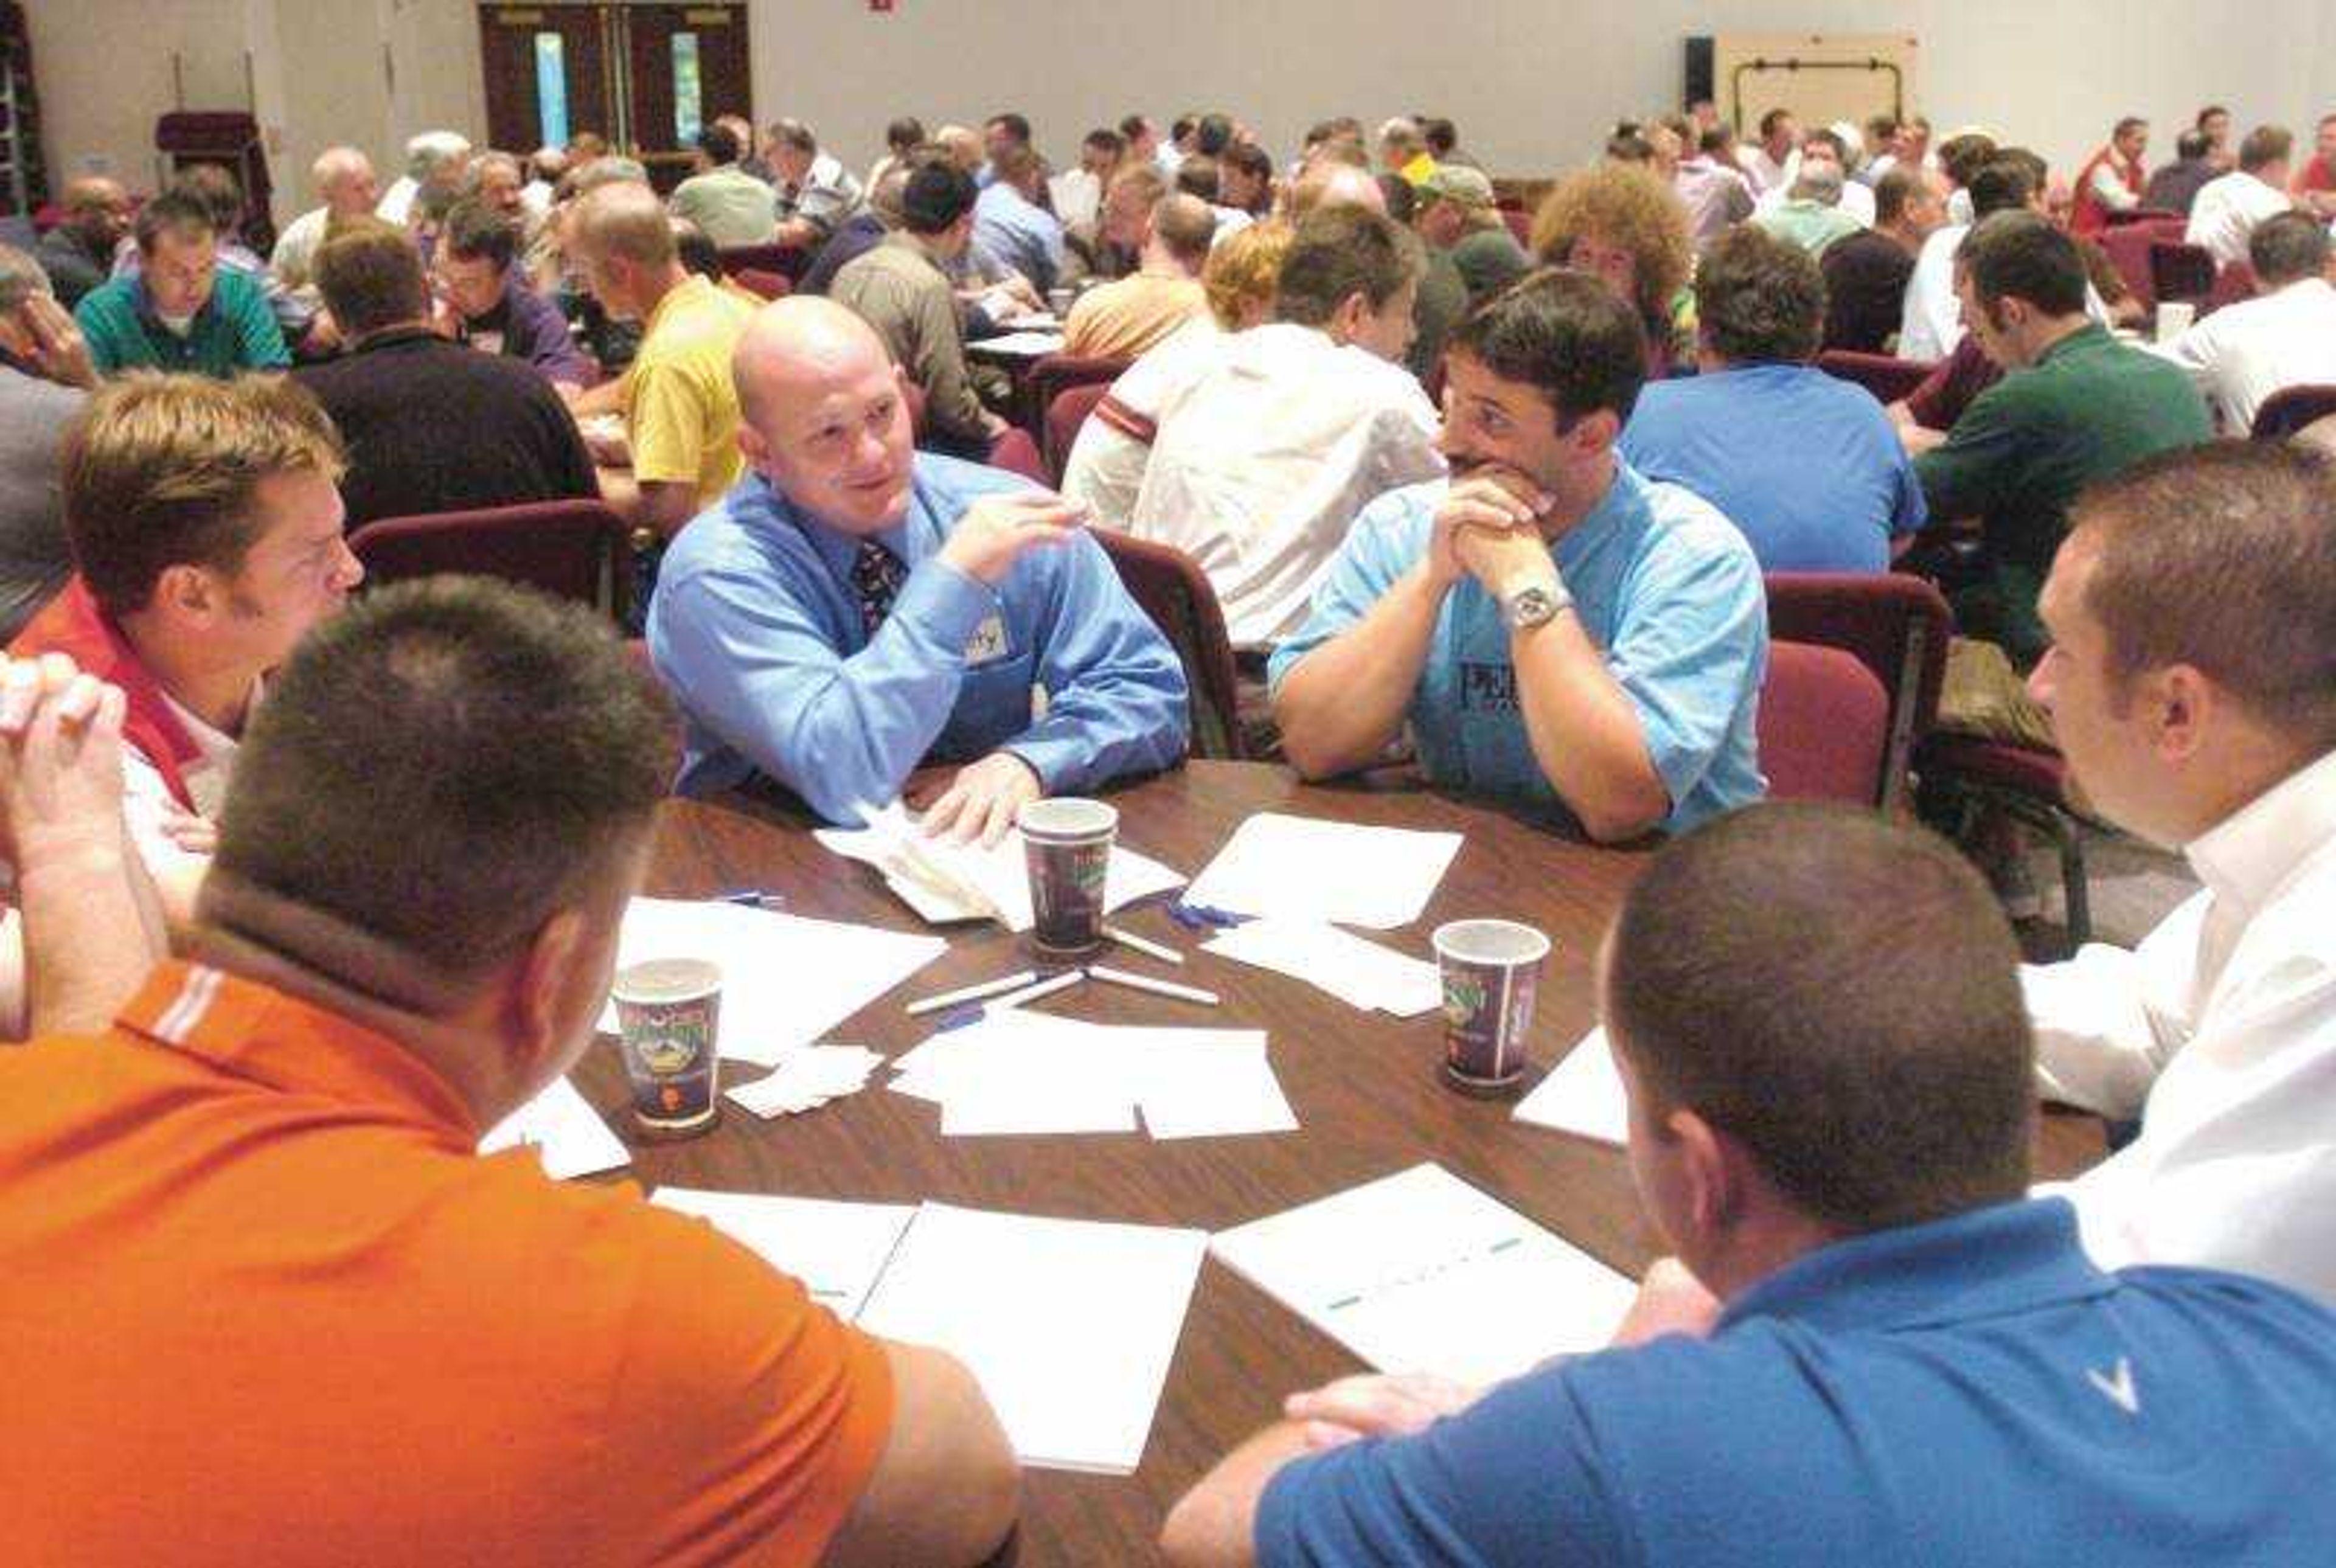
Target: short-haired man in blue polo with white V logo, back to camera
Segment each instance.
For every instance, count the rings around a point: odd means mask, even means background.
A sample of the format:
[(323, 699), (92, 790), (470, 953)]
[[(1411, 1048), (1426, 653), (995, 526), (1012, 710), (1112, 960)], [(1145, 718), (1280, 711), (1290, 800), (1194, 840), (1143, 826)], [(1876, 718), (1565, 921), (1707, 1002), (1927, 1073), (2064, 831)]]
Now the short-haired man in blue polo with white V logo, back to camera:
[(1292, 1397), (1175, 1507), (1168, 1559), (2324, 1561), (2336, 1318), (2236, 1274), (2102, 1274), (2070, 1206), (2025, 1196), (2016, 965), (1986, 881), (1869, 811), (1761, 806), (1663, 851), (1600, 1010), (1677, 1260), (1602, 1353)]

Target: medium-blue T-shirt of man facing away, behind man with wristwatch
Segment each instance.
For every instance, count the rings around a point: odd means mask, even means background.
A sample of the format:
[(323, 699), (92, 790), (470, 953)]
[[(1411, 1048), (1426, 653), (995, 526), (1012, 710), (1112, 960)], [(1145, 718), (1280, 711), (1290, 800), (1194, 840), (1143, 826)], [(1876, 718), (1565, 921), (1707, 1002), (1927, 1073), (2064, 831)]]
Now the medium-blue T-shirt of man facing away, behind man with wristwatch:
[(1930, 516), (1873, 393), (1808, 365), (1656, 381), (1621, 453), (1719, 507), (1766, 573), (1885, 573), (1890, 537)]

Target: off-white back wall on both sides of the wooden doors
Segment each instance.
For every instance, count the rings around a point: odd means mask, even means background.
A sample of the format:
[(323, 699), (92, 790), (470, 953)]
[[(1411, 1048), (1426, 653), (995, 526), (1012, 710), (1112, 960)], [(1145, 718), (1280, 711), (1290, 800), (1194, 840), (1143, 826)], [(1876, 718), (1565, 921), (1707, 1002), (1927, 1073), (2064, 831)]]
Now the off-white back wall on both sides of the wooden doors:
[[(2336, 7), (2324, 0), (752, 0), (755, 115), (808, 119), (867, 164), (892, 115), (927, 126), (1018, 107), (1058, 159), (1089, 126), (1145, 110), (1226, 107), (1278, 152), (1313, 119), (1437, 110), (1495, 173), (1581, 161), (1617, 115), (1668, 107), (1689, 33), (1911, 33), (1918, 107), (1981, 122), (2060, 166), (2119, 115), (2156, 150), (2205, 100), (2240, 126), (2310, 131), (2336, 107)], [(306, 206), (306, 166), (334, 143), (383, 175), (413, 131), (484, 126), (472, 0), (40, 0), (33, 42), (51, 168), (154, 173), (152, 122), (241, 107), (245, 51), (271, 131), (278, 215)], [(392, 84), (395, 79), (395, 84)], [(724, 105), (726, 107), (726, 105)]]

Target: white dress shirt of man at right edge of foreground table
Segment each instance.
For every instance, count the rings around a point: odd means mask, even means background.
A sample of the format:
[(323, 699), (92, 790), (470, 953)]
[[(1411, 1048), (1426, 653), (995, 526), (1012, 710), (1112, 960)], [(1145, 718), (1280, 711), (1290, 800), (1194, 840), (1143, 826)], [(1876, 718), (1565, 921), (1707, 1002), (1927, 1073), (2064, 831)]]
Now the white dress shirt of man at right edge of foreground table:
[(2236, 1269), (2336, 1302), (2336, 752), (2184, 855), (2205, 890), (2135, 951), (2023, 970), (2044, 1094), (2142, 1115), (2065, 1196), (2105, 1269)]

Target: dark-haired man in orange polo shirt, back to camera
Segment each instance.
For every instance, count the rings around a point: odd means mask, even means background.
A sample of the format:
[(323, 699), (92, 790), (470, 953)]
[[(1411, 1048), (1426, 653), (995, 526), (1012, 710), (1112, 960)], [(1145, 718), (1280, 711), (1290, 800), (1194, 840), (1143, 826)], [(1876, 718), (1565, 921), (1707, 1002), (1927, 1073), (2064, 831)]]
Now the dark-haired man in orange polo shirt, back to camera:
[(631, 1185), (477, 1154), (591, 1042), (670, 724), (603, 624), (479, 580), (301, 645), (192, 960), (0, 1056), (12, 1559), (997, 1547), (1014, 1456), (958, 1362)]

